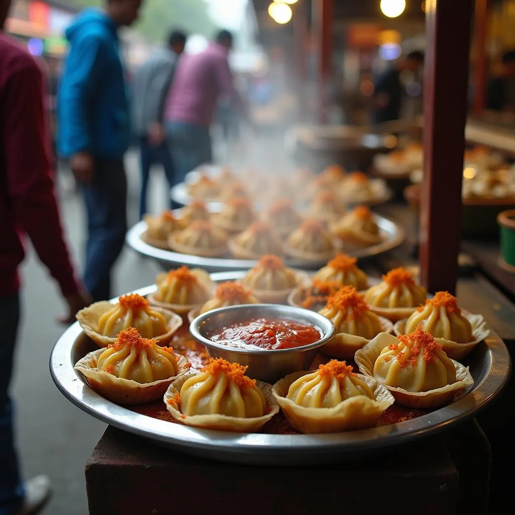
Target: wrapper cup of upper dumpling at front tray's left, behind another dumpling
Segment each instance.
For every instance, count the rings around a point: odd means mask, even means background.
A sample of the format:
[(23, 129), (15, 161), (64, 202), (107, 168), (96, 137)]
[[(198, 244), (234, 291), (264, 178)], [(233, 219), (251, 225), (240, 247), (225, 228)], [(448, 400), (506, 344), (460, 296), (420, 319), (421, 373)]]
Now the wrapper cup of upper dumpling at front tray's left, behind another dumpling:
[[(115, 305), (116, 303), (112, 304), (107, 300), (102, 300), (91, 304), (89, 307), (85, 307), (77, 313), (76, 318), (79, 321), (80, 327), (99, 347), (107, 347), (116, 341), (116, 337), (110, 338), (98, 332), (98, 320), (104, 313), (112, 310)], [(152, 310), (164, 316), (167, 328), (166, 333), (152, 336), (152, 339), (157, 340), (158, 345), (165, 346), (181, 327), (183, 320), (176, 313), (165, 310), (162, 307), (152, 306)]]

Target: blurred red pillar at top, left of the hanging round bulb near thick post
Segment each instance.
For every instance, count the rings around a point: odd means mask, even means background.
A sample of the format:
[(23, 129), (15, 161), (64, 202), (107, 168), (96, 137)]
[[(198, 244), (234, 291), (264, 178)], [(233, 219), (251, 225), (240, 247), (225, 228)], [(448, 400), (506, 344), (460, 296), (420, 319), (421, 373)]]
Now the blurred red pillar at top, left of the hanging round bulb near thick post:
[(318, 44), (318, 121), (327, 123), (330, 102), (328, 89), (332, 75), (334, 0), (313, 0), (312, 9)]

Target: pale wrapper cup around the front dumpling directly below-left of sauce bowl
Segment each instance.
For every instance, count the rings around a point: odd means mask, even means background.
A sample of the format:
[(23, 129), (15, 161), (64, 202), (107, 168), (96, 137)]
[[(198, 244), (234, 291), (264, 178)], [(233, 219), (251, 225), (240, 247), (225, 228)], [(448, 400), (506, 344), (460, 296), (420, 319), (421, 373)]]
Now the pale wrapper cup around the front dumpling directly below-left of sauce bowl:
[(186, 374), (173, 381), (164, 394), (163, 401), (171, 416), (186, 425), (215, 429), (219, 431), (232, 431), (234, 433), (256, 433), (274, 416), (279, 413), (279, 404), (272, 394), (272, 385), (263, 381), (256, 381), (256, 386), (265, 396), (268, 413), (262, 417), (244, 418), (228, 417), (227, 415), (193, 415), (185, 416), (175, 402), (175, 394), (181, 393), (182, 385), (197, 374)]

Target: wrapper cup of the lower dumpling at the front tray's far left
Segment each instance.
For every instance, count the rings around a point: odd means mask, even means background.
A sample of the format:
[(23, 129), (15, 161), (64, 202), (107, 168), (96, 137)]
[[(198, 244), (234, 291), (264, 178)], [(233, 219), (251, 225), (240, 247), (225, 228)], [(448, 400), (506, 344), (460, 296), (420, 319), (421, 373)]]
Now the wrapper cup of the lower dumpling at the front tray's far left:
[(177, 375), (152, 383), (138, 383), (98, 370), (98, 358), (104, 350), (98, 349), (86, 354), (76, 363), (74, 368), (80, 372), (88, 386), (102, 397), (116, 404), (134, 405), (157, 401), (163, 396), (172, 381), (183, 376), (190, 369), (184, 356), (174, 354), (177, 359)]

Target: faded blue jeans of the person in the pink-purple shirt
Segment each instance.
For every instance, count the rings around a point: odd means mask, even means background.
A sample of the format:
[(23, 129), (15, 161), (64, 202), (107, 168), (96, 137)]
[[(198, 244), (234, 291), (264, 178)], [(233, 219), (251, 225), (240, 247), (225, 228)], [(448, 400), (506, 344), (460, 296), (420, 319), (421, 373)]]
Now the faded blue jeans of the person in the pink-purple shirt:
[(176, 184), (184, 181), (188, 171), (213, 161), (208, 127), (168, 122), (166, 135), (174, 162)]

